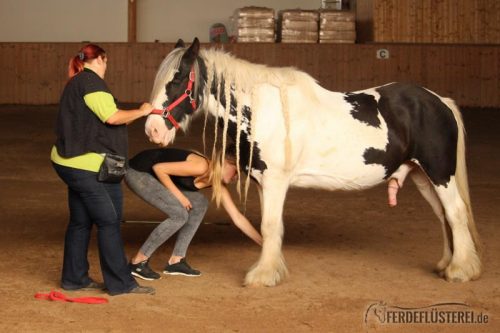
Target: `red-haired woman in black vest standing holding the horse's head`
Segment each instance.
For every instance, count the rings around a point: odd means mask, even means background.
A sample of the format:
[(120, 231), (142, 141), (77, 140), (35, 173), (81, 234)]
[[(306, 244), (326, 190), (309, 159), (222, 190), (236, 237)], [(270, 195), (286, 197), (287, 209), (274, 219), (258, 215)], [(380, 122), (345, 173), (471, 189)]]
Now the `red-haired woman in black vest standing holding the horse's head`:
[[(123, 193), (119, 182), (98, 180), (108, 155), (127, 157), (127, 127), (147, 116), (152, 105), (121, 110), (104, 76), (104, 50), (88, 44), (69, 63), (69, 80), (62, 93), (51, 160), (68, 187), (69, 224), (64, 244), (61, 286), (65, 290), (107, 289), (110, 295), (153, 294), (130, 274), (120, 232)], [(88, 244), (93, 225), (104, 284), (89, 277)]]

